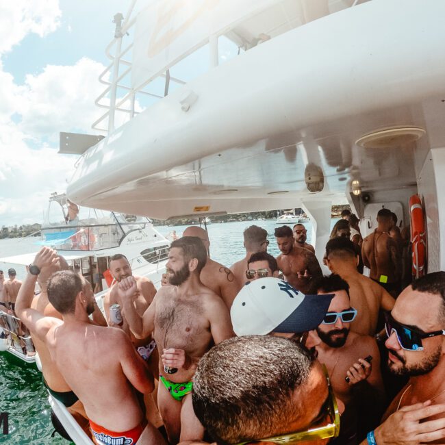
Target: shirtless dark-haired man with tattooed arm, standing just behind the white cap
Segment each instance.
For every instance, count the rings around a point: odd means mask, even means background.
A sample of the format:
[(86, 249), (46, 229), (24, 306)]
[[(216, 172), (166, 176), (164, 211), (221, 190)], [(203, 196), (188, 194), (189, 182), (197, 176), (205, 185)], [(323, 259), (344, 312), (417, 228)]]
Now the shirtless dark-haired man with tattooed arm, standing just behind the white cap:
[(277, 263), (285, 280), (303, 294), (311, 294), (312, 284), (322, 277), (316, 256), (303, 247), (294, 246), (292, 229), (288, 226), (275, 229), (275, 238), (281, 251)]

